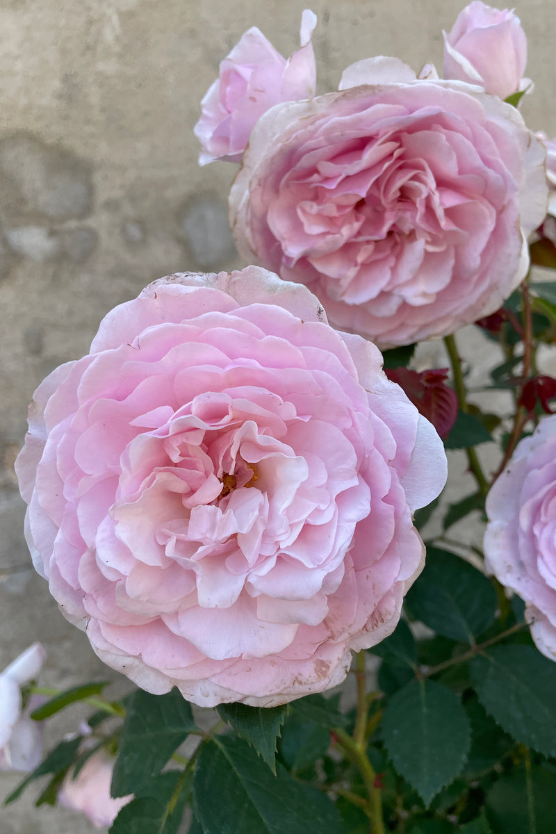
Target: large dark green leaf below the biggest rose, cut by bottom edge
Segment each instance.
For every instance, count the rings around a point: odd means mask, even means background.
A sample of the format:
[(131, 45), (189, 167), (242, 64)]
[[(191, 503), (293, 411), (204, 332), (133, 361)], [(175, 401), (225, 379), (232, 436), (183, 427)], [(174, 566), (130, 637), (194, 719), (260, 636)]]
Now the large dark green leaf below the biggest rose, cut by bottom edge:
[[(225, 801), (215, 801), (215, 795)], [(273, 776), (238, 737), (217, 736), (203, 744), (193, 800), (203, 834), (346, 834), (326, 794), (282, 768)]]

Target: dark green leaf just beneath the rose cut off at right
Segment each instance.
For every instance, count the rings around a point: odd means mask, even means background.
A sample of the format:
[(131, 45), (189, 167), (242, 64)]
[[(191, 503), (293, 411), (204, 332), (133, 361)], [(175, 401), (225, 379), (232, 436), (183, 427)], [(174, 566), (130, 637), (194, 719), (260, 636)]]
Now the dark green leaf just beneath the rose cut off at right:
[(530, 646), (494, 646), (471, 662), (478, 699), (516, 741), (556, 756), (556, 666)]

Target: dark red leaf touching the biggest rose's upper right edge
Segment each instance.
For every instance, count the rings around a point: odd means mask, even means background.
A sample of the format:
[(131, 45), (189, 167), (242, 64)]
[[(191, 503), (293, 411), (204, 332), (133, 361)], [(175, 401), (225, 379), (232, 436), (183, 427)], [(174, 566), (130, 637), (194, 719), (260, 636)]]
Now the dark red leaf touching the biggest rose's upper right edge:
[(446, 384), (448, 368), (434, 368), (418, 373), (408, 368), (388, 368), (388, 379), (403, 388), (423, 417), (433, 424), (438, 435), (443, 437), (455, 423), (458, 416), (458, 398), (455, 391)]

